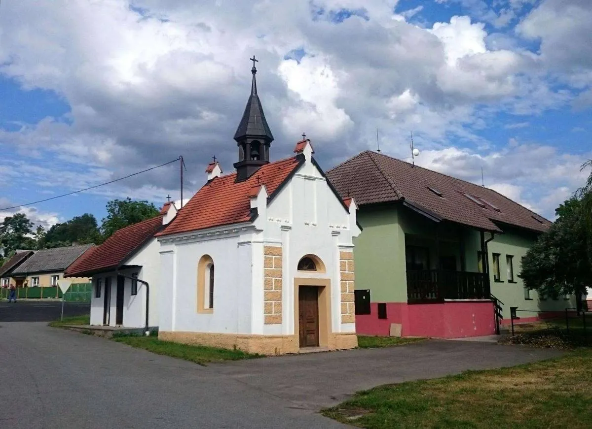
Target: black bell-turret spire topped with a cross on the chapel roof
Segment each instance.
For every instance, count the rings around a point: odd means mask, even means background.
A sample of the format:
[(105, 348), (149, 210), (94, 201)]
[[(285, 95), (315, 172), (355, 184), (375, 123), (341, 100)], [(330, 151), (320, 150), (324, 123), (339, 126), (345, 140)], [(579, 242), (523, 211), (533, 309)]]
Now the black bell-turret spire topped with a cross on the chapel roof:
[(244, 108), (243, 117), (240, 120), (239, 127), (234, 133), (234, 140), (239, 145), (239, 162), (234, 163), (237, 172), (237, 180), (245, 180), (262, 165), (269, 163), (269, 147), (274, 141), (274, 135), (265, 120), (265, 114), (261, 106), (261, 100), (257, 95), (257, 69), (255, 63), (258, 60), (249, 58), (253, 61), (253, 80), (251, 82), (251, 95)]

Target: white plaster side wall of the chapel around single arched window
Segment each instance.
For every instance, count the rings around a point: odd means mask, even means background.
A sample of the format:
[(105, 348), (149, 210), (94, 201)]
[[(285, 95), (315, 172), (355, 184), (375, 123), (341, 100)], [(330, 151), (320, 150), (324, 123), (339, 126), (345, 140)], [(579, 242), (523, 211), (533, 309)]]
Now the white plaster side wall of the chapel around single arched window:
[[(250, 234), (244, 238), (221, 234), (205, 241), (194, 238), (162, 243), (162, 282), (172, 285), (173, 291), (162, 300), (161, 330), (253, 333), (252, 244)], [(213, 313), (197, 312), (197, 268), (203, 255), (214, 261)]]

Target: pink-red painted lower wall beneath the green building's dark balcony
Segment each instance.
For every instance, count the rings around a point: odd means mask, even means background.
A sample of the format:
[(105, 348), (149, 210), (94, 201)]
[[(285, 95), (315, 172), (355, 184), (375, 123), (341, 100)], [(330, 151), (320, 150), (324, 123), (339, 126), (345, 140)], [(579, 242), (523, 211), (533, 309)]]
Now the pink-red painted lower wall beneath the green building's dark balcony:
[(401, 336), (461, 338), (496, 333), (491, 301), (446, 301), (437, 304), (387, 303), (387, 319), (378, 319), (378, 303), (371, 314), (356, 316), (356, 332), (388, 336), (391, 323), (401, 324)]

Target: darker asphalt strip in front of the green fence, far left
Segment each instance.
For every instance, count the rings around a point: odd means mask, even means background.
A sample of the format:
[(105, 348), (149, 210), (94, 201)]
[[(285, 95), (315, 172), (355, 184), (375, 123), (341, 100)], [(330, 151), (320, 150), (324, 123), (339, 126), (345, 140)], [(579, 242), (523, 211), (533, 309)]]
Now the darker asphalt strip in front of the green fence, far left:
[[(82, 316), (91, 312), (89, 303), (64, 304), (64, 317)], [(62, 314), (62, 301), (24, 301), (16, 303), (0, 301), (0, 322), (4, 321), (53, 321), (60, 319)]]

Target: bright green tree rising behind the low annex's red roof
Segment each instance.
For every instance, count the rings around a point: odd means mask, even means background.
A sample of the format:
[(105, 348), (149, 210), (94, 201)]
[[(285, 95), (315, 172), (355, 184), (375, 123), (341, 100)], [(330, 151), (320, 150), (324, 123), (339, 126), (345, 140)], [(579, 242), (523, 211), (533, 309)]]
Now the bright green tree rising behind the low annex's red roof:
[(147, 201), (133, 201), (130, 197), (125, 200), (112, 200), (107, 203), (107, 217), (102, 220), (103, 238), (107, 239), (118, 229), (150, 219), (158, 213), (155, 205)]

